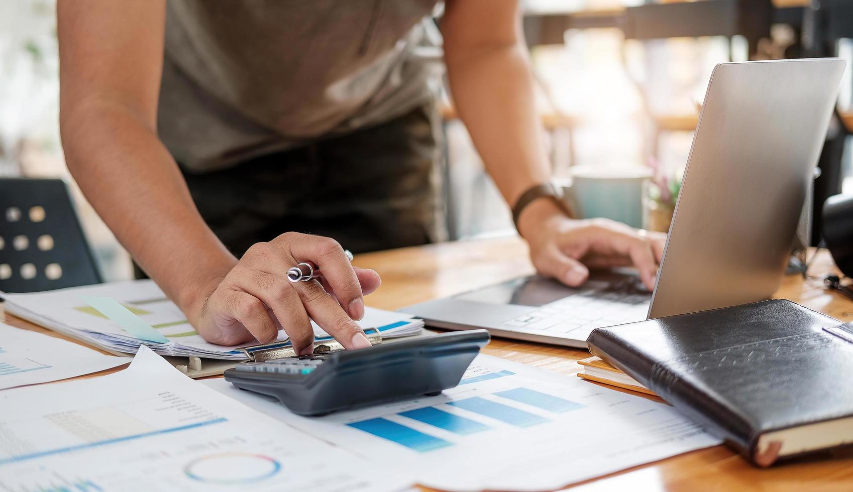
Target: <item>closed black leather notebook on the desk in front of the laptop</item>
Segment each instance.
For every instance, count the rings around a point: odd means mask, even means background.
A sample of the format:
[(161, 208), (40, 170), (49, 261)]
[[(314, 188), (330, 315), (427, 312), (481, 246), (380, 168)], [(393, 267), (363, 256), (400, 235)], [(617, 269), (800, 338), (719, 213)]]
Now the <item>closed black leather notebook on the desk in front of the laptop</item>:
[(599, 328), (587, 342), (754, 464), (770, 466), (853, 443), (851, 325), (771, 299)]

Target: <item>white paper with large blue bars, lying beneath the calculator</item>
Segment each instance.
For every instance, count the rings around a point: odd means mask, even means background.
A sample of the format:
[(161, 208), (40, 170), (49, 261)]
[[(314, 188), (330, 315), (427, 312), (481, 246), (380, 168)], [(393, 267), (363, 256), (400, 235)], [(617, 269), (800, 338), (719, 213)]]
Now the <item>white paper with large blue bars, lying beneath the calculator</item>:
[(556, 489), (720, 443), (663, 403), (491, 356), (443, 395), (315, 418), (202, 384), (436, 489)]

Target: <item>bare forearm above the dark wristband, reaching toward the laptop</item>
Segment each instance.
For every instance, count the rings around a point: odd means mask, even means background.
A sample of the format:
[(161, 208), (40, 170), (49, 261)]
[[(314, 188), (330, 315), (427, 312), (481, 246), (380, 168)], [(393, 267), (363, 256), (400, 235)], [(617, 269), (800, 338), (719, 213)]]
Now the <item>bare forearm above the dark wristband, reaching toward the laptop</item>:
[(456, 109), (486, 170), (513, 205), (551, 175), (526, 49), (509, 43), (464, 53), (445, 50)]

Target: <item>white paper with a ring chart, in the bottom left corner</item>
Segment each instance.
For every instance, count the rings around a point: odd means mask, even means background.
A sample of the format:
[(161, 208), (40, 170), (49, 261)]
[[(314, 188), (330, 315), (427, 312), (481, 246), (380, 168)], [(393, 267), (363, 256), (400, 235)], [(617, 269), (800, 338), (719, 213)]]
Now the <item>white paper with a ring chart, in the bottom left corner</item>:
[(187, 378), (145, 347), (119, 373), (0, 391), (0, 490), (399, 490), (411, 481)]

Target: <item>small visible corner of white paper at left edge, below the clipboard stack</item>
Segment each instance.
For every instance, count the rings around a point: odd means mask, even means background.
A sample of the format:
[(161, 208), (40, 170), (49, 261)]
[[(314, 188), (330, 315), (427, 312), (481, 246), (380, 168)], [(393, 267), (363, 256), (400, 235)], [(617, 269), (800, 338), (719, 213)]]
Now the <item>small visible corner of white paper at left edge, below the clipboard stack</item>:
[(42, 333), (0, 323), (0, 390), (117, 368), (127, 357), (95, 350)]

